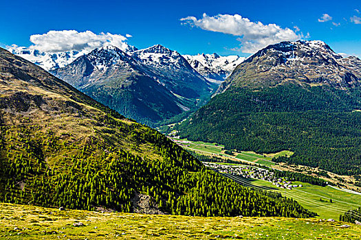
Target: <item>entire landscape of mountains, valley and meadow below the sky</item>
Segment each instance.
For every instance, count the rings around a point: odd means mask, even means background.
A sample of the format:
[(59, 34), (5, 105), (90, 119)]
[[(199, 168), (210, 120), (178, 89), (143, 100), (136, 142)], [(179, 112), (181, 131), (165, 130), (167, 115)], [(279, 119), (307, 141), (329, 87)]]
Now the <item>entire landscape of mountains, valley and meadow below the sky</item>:
[(360, 97), (318, 40), (0, 48), (0, 238), (358, 239)]

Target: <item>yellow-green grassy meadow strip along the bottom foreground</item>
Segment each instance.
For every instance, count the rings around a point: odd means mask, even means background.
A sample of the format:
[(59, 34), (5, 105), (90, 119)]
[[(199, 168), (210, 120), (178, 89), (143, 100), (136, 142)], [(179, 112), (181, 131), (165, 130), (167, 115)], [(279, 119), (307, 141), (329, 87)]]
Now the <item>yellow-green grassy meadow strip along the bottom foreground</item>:
[[(74, 226), (76, 223), (83, 226)], [(285, 217), (187, 217), (0, 204), (0, 239), (360, 239), (361, 226)]]

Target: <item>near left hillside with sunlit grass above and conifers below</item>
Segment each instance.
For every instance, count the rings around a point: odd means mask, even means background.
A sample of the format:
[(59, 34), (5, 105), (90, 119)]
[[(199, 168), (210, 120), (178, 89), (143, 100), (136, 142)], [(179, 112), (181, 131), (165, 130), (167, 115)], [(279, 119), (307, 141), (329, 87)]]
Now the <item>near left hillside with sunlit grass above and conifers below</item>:
[(159, 132), (4, 49), (0, 201), (178, 215), (314, 215), (205, 169)]

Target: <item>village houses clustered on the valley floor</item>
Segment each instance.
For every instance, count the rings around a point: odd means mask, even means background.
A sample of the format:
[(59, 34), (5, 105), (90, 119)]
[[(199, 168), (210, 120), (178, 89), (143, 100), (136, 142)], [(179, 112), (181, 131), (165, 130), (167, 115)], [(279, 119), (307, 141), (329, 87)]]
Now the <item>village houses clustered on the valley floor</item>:
[(204, 165), (206, 165), (206, 167), (211, 167), (212, 169), (214, 169), (215, 171), (219, 171), (220, 173), (228, 173), (239, 176), (241, 178), (254, 178), (272, 182), (272, 184), (281, 189), (293, 189), (296, 187), (303, 187), (302, 185), (292, 184), (292, 182), (289, 182), (288, 178), (276, 178), (272, 171), (268, 171), (259, 167), (219, 165), (217, 163), (206, 162), (204, 162)]

